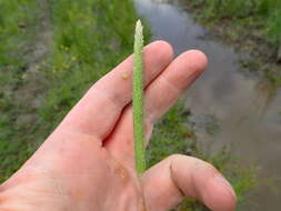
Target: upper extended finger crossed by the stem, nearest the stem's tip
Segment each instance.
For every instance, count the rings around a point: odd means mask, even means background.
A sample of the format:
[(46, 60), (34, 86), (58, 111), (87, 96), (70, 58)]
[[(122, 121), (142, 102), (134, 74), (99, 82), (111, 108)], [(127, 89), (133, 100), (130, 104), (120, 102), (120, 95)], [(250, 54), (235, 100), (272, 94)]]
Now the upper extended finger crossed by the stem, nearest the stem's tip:
[[(155, 41), (147, 46), (143, 50), (144, 83), (149, 84), (172, 58), (172, 48), (167, 42)], [(133, 59), (130, 56), (93, 84), (59, 129), (71, 129), (103, 140), (112, 131), (122, 109), (131, 102), (132, 66)]]

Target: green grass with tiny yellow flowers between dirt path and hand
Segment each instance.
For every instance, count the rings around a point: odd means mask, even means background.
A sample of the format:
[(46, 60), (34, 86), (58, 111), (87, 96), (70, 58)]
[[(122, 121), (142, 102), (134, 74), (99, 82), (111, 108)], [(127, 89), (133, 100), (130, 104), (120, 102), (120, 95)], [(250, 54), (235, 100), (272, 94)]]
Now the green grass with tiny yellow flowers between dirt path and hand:
[[(104, 73), (132, 52), (134, 9), (129, 0), (51, 0), (53, 49), (49, 92), (40, 110), (52, 130)], [(110, 6), (110, 7), (109, 7)], [(121, 17), (120, 11), (127, 11)], [(51, 123), (50, 123), (51, 122)]]

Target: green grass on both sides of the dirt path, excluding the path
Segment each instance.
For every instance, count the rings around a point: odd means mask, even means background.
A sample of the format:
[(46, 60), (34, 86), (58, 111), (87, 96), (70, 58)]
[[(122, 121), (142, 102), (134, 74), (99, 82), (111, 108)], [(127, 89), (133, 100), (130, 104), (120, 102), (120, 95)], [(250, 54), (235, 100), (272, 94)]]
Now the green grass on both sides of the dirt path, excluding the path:
[[(0, 181), (31, 155), (91, 84), (132, 52), (137, 17), (130, 0), (47, 2), (52, 43), (49, 57), (38, 63), (44, 100), (30, 111), (18, 91), (26, 84), (26, 49), (37, 34), (39, 1), (0, 1)], [(19, 28), (20, 22), (28, 27)], [(19, 121), (29, 112), (36, 113), (34, 124)]]

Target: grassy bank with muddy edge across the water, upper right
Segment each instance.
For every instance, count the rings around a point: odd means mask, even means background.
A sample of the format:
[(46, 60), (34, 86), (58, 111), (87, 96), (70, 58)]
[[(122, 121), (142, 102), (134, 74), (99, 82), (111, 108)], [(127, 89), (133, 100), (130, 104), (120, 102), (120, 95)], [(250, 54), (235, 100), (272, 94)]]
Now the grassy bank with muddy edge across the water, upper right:
[(261, 70), (275, 84), (281, 84), (277, 62), (281, 48), (281, 1), (190, 0), (187, 7), (215, 36), (253, 56), (243, 61), (247, 70)]

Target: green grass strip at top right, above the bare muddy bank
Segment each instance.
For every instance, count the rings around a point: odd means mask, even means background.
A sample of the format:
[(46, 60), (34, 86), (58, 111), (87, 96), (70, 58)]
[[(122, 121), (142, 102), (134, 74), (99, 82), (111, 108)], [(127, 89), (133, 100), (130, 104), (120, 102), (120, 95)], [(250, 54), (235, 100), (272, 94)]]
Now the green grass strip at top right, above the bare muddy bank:
[(201, 17), (208, 21), (229, 19), (231, 24), (242, 24), (260, 29), (274, 46), (281, 32), (281, 1), (279, 0), (191, 0), (193, 7), (200, 7)]

